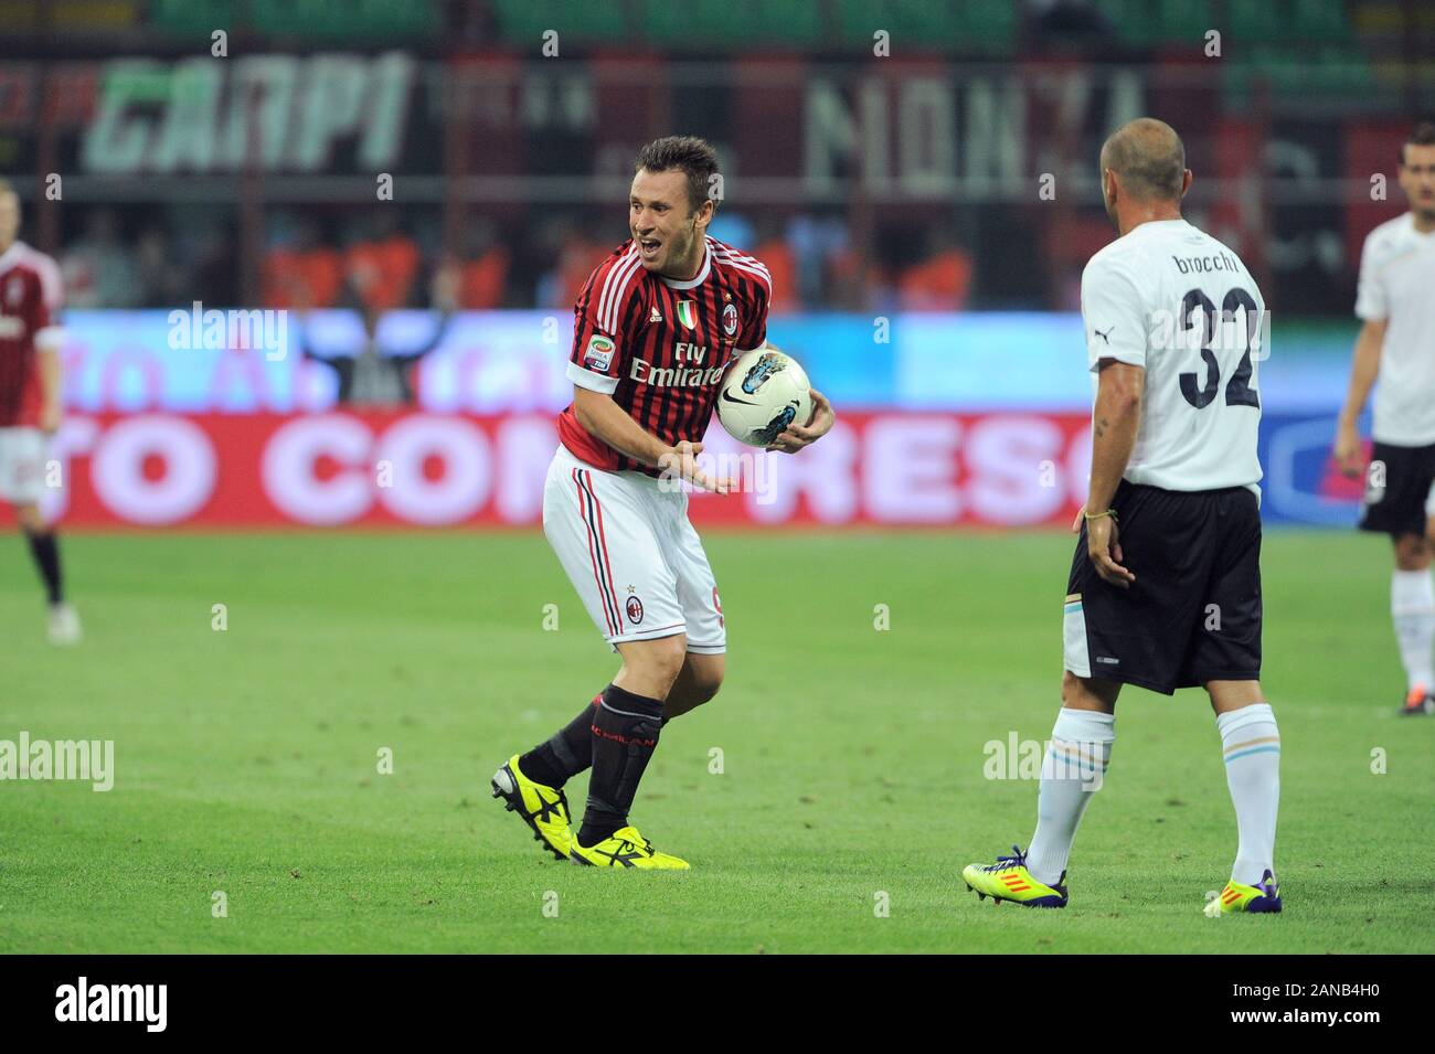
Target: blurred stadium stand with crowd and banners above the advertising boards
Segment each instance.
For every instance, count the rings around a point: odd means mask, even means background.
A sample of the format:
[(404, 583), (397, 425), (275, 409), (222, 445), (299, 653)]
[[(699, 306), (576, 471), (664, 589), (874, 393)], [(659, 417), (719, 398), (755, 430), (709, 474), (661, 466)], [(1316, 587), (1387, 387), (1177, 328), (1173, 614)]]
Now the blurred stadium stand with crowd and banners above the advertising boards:
[(769, 260), (778, 310), (1065, 310), (1109, 237), (1096, 146), (1155, 112), (1194, 218), (1271, 305), (1343, 315), (1398, 209), (1368, 174), (1435, 109), (1435, 13), (1395, 0), (0, 0), (0, 168), (30, 201), (65, 174), (29, 235), (110, 307), (422, 305), (445, 264), (464, 307), (563, 307), (624, 237), (634, 148), (680, 129), (720, 146), (718, 234)]

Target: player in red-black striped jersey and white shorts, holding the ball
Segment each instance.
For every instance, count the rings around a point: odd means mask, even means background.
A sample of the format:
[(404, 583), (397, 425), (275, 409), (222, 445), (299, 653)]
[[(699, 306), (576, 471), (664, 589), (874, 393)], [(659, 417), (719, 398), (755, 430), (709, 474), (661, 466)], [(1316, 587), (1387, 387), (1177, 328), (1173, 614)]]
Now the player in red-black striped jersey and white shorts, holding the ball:
[[(706, 142), (657, 139), (634, 168), (633, 237), (574, 305), (574, 400), (558, 419), (563, 443), (544, 489), (544, 533), (623, 668), (552, 739), (511, 757), (492, 786), (558, 858), (682, 869), (629, 825), (663, 723), (718, 693), (728, 647), (718, 585), (673, 478), (730, 489), (697, 467), (697, 440), (728, 363), (766, 344), (772, 285), (756, 258), (707, 237), (718, 156)], [(796, 453), (832, 420), (814, 390), (812, 419), (771, 449)], [(563, 784), (588, 766), (574, 835)]]

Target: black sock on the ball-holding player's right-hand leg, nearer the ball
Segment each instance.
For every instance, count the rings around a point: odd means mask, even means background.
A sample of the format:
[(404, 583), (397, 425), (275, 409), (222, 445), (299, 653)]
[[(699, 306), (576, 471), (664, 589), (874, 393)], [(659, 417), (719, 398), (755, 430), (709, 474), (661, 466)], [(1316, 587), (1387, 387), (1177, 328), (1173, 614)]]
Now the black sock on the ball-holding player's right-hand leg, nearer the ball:
[(594, 846), (627, 826), (627, 813), (647, 759), (657, 749), (662, 723), (662, 700), (634, 695), (611, 684), (603, 691), (593, 714), (593, 774), (578, 845)]

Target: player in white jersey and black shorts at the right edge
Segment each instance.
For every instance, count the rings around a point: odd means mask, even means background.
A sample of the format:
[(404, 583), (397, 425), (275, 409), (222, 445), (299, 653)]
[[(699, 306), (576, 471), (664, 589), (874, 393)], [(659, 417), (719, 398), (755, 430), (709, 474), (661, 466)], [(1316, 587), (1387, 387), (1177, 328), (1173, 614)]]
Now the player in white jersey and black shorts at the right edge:
[(1395, 543), (1391, 618), (1405, 665), (1403, 714), (1435, 713), (1435, 123), (1401, 148), (1401, 189), (1411, 211), (1376, 227), (1360, 252), (1350, 391), (1336, 430), (1342, 470), (1359, 476), (1356, 422), (1375, 379), (1375, 439), (1362, 531)]

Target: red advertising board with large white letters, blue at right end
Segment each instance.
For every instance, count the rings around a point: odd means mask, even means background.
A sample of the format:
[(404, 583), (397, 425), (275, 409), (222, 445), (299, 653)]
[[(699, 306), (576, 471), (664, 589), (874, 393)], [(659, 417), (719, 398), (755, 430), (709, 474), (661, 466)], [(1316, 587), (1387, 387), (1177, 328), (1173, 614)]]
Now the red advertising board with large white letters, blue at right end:
[[(1359, 485), (1330, 423), (1263, 430), (1267, 522), (1349, 525)], [(70, 526), (535, 526), (557, 449), (550, 414), (70, 416), (50, 440), (44, 512)], [(1065, 526), (1085, 500), (1079, 413), (851, 413), (798, 456), (707, 433), (699, 525)]]

